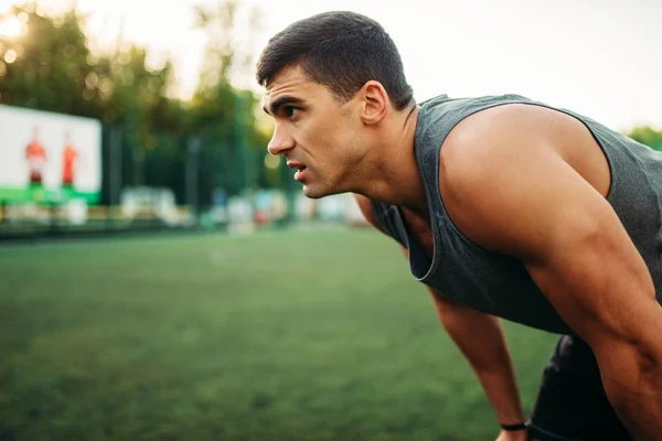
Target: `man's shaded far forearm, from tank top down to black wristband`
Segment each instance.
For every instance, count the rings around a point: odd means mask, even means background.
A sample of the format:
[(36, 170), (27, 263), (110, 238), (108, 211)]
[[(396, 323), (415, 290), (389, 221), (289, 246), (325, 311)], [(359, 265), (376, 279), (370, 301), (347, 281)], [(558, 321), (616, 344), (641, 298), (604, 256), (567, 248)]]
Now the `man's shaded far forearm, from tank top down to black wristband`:
[(499, 320), (446, 301), (437, 300), (436, 305), (441, 324), (469, 362), (499, 422), (522, 422), (520, 394)]

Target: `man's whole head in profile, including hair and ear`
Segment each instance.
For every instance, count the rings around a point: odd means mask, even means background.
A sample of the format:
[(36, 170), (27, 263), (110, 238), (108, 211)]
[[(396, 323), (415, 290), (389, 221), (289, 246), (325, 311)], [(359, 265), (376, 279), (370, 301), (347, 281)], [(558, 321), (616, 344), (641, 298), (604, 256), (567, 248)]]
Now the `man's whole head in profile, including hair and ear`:
[(394, 42), (374, 20), (327, 12), (275, 35), (257, 64), (276, 120), (269, 152), (299, 169), (309, 197), (353, 190), (386, 111), (414, 104)]

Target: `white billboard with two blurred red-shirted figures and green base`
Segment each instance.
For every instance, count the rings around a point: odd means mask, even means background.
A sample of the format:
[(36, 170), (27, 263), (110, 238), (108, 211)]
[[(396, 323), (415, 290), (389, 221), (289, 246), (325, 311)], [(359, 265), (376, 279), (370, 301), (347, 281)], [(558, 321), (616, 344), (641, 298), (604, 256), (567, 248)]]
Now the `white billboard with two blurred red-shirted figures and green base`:
[(102, 189), (102, 123), (0, 105), (0, 201), (85, 200)]

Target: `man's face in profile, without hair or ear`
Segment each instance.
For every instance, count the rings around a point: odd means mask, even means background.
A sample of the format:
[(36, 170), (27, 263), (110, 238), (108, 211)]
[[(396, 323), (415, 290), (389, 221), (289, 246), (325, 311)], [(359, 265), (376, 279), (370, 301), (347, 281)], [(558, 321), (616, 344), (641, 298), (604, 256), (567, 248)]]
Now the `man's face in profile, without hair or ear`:
[(298, 67), (282, 69), (267, 86), (265, 110), (276, 128), (268, 150), (282, 154), (303, 194), (318, 198), (351, 191), (365, 151), (360, 103), (340, 103), (327, 86)]

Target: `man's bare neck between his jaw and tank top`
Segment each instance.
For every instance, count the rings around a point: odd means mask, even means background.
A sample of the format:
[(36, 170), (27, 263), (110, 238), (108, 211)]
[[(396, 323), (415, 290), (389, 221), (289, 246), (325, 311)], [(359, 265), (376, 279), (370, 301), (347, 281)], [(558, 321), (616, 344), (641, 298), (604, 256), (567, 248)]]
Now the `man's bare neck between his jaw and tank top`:
[(417, 122), (417, 106), (384, 119), (371, 149), (373, 154), (361, 164), (360, 185), (354, 193), (427, 216), (425, 189), (414, 151)]

